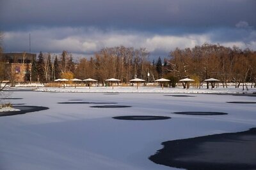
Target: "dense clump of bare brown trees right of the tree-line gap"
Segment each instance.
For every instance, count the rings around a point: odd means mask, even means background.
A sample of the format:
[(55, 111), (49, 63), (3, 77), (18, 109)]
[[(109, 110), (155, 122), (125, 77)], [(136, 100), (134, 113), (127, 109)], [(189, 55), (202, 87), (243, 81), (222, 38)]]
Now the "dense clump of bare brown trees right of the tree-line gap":
[(246, 48), (205, 43), (194, 48), (176, 48), (170, 52), (168, 71), (178, 78), (193, 78), (203, 82), (216, 78), (227, 86), (227, 82), (240, 83), (256, 81), (256, 52)]

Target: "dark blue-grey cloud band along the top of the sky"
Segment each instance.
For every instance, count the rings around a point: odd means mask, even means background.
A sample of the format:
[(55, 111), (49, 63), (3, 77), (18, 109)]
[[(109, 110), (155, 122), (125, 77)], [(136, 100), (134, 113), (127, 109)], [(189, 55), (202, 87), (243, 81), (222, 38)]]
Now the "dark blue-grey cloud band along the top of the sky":
[(255, 26), (254, 0), (2, 0), (1, 29), (29, 26), (94, 26), (168, 30), (172, 27)]

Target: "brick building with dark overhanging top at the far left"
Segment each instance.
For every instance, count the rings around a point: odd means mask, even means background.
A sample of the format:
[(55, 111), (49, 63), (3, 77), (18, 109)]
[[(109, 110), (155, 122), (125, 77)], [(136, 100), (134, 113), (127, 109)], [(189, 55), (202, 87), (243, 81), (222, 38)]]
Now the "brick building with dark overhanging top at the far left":
[(5, 79), (18, 83), (31, 81), (31, 66), (35, 53), (3, 53), (0, 61), (5, 64)]

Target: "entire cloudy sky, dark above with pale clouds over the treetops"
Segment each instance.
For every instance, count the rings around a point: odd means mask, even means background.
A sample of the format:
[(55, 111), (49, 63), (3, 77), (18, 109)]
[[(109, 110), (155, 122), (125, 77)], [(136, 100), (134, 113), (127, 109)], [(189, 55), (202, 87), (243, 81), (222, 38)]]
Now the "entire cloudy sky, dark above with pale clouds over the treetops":
[(4, 52), (92, 55), (147, 48), (151, 57), (204, 43), (256, 50), (255, 0), (1, 0)]

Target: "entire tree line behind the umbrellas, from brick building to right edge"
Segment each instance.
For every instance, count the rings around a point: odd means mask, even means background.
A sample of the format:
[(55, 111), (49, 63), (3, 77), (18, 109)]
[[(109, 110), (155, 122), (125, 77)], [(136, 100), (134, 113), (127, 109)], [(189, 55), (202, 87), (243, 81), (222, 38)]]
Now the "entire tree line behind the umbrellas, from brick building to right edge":
[(92, 57), (83, 57), (74, 63), (72, 54), (63, 51), (52, 56), (42, 53), (32, 63), (32, 81), (48, 82), (57, 78), (94, 78), (104, 83), (108, 78), (117, 78), (127, 83), (132, 78), (154, 81), (168, 78), (173, 85), (182, 78), (192, 78), (202, 85), (208, 78), (216, 78), (227, 86), (234, 82), (256, 81), (256, 52), (205, 43), (194, 48), (175, 48), (168, 57), (150, 61), (146, 48), (116, 46), (102, 48)]

